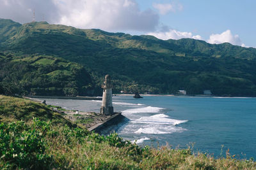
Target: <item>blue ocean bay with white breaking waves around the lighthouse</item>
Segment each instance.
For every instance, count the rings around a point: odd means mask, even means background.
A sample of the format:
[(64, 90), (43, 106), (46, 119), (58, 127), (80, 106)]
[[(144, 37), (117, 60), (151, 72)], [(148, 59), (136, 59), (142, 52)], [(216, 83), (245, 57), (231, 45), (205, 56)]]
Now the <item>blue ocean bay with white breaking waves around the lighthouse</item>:
[[(256, 98), (188, 96), (114, 96), (115, 111), (126, 118), (108, 127), (138, 145), (193, 148), (221, 157), (256, 159)], [(68, 110), (100, 111), (101, 101), (45, 99)]]

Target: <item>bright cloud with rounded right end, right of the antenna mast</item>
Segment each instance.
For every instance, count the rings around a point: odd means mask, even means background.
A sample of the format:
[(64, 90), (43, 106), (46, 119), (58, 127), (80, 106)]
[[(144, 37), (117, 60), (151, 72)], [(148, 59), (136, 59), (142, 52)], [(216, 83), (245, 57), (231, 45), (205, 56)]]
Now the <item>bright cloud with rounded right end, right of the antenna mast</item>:
[(55, 0), (60, 23), (107, 31), (152, 31), (159, 24), (153, 10), (141, 11), (134, 0)]

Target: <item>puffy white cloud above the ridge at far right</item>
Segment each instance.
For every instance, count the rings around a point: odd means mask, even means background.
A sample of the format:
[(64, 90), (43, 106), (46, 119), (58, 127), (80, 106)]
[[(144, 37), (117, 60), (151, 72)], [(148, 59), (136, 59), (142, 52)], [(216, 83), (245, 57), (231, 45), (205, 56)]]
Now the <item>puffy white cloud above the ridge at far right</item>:
[(211, 44), (230, 43), (232, 45), (246, 47), (244, 43), (242, 43), (239, 36), (233, 35), (229, 29), (227, 31), (222, 32), (221, 34), (211, 34), (207, 42)]

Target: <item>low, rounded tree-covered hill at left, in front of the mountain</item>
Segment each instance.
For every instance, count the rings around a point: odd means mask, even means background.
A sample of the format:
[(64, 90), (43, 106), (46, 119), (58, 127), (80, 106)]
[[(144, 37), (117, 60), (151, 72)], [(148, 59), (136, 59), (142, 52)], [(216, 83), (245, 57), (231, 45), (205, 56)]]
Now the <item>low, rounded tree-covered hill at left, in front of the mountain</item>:
[(90, 74), (74, 62), (47, 55), (0, 53), (0, 94), (85, 96), (93, 94)]

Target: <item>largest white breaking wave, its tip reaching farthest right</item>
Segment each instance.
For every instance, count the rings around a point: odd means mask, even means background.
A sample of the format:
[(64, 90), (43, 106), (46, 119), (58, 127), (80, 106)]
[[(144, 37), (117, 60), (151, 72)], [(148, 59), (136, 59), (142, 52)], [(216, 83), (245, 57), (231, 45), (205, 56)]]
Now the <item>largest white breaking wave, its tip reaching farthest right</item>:
[(137, 120), (132, 121), (132, 123), (140, 123), (140, 124), (166, 124), (166, 125), (178, 125), (185, 122), (188, 122), (188, 120), (176, 120), (164, 114), (153, 115), (151, 117), (141, 117)]

